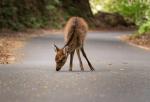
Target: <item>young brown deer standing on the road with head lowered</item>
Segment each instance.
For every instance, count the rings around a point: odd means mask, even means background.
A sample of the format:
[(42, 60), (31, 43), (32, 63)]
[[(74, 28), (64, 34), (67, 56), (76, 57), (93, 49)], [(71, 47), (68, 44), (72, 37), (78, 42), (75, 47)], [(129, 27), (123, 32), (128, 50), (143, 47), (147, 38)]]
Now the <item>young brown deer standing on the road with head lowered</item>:
[(71, 17), (65, 26), (65, 45), (63, 48), (58, 48), (56, 45), (56, 71), (59, 71), (63, 65), (66, 63), (68, 55), (70, 55), (70, 68), (69, 71), (72, 71), (72, 63), (73, 63), (73, 56), (76, 50), (78, 55), (81, 71), (84, 71), (82, 60), (80, 57), (80, 51), (82, 52), (83, 56), (85, 57), (91, 71), (94, 71), (94, 68), (90, 61), (88, 60), (86, 53), (84, 51), (83, 45), (84, 40), (86, 37), (86, 33), (88, 31), (88, 26), (85, 20), (81, 17)]

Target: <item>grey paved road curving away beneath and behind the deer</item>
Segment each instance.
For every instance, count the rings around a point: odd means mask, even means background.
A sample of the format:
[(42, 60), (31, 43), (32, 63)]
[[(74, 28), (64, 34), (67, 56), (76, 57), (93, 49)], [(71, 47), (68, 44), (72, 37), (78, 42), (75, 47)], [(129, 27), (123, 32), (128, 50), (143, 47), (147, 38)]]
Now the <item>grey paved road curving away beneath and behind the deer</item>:
[(0, 102), (150, 102), (150, 52), (128, 45), (117, 36), (130, 32), (89, 33), (85, 45), (95, 67), (80, 72), (77, 57), (73, 72), (68, 64), (55, 71), (53, 41), (61, 35), (33, 38), (24, 59), (0, 65)]

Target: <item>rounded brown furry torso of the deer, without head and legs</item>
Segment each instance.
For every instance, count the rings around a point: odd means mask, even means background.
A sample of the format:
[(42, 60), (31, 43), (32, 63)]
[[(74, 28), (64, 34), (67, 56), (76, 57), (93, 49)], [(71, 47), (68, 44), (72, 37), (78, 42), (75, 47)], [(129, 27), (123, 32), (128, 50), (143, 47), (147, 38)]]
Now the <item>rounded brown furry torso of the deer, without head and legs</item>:
[(76, 19), (77, 19), (77, 25), (75, 29), (75, 34), (74, 34), (72, 41), (68, 45), (69, 52), (72, 52), (76, 48), (81, 47), (81, 45), (83, 45), (85, 37), (86, 37), (86, 33), (88, 31), (87, 23), (85, 22), (83, 18), (81, 17), (70, 18), (64, 29), (65, 43), (67, 43), (67, 41), (71, 37), (71, 32), (74, 30), (74, 21)]

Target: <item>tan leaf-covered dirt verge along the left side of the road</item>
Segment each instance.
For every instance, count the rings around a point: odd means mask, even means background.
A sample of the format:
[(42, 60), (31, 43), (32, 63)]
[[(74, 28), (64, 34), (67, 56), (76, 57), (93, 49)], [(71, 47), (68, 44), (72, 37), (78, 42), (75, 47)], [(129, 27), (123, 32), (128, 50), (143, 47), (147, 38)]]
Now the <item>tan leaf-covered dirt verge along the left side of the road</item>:
[(0, 64), (12, 64), (24, 56), (18, 49), (24, 47), (27, 39), (48, 34), (60, 34), (60, 30), (28, 29), (14, 32), (9, 30), (0, 31)]

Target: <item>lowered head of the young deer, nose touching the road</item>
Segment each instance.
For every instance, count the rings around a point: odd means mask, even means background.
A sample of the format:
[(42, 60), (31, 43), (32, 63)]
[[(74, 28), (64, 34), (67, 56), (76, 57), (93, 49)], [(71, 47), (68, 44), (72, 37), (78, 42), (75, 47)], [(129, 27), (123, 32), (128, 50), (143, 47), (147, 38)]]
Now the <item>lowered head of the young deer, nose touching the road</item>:
[(55, 56), (55, 62), (56, 62), (56, 71), (59, 71), (63, 65), (66, 63), (68, 54), (65, 51), (65, 48), (58, 48), (55, 44), (55, 52), (56, 52), (56, 56)]

